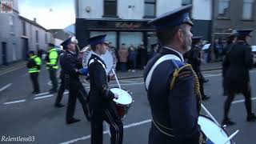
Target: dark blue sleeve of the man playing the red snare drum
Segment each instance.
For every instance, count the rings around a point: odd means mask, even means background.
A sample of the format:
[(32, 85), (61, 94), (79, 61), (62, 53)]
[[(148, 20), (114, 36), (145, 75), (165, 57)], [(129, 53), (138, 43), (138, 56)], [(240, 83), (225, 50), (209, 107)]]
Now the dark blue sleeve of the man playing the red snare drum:
[(91, 64), (90, 73), (91, 72), (94, 72), (94, 74), (90, 74), (90, 76), (94, 78), (97, 91), (99, 91), (106, 100), (112, 101), (114, 99), (114, 93), (110, 91), (107, 85), (106, 71), (102, 65), (98, 62)]

